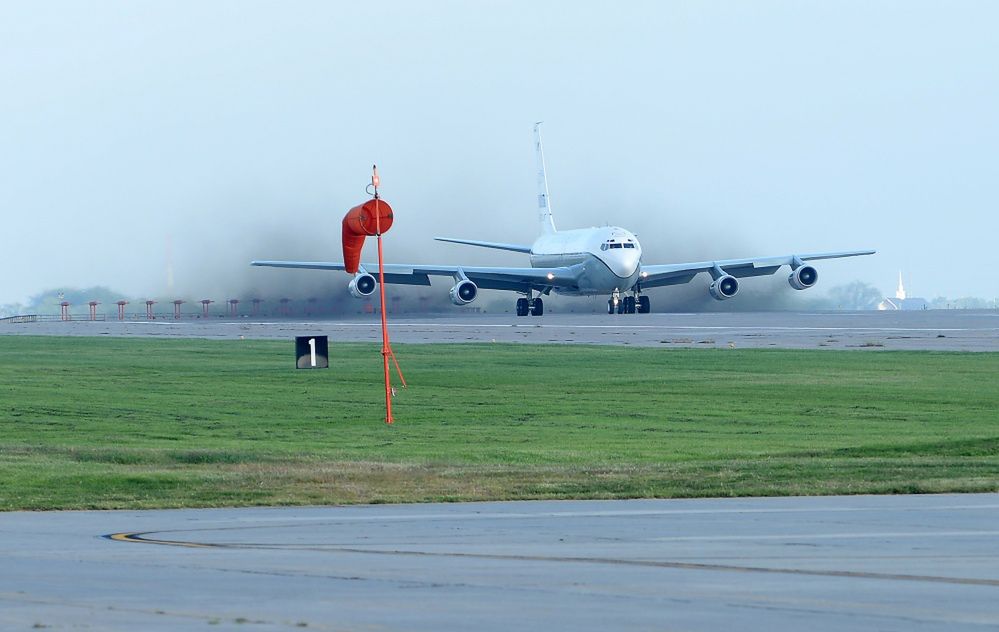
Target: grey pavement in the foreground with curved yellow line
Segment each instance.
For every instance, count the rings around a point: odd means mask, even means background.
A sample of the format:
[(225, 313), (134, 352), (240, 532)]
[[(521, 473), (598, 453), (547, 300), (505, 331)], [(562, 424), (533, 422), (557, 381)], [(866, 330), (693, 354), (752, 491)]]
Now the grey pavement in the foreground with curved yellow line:
[(994, 494), (19, 512), (0, 547), (5, 630), (999, 628)]

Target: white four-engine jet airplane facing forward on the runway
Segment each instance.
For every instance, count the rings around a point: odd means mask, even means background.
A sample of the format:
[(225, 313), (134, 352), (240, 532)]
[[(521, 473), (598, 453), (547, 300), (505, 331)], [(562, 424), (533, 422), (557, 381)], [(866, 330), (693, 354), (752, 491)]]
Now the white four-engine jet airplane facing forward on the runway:
[[(524, 296), (517, 299), (517, 316), (544, 314), (542, 297), (552, 292), (567, 296), (609, 296), (608, 314), (647, 314), (652, 306), (643, 291), (688, 283), (701, 273), (711, 276), (708, 293), (724, 301), (738, 294), (742, 278), (771, 275), (788, 266), (791, 271), (788, 283), (796, 290), (806, 290), (818, 281), (818, 271), (806, 262), (875, 253), (874, 250), (848, 250), (647, 265), (642, 262), (638, 237), (619, 226), (556, 230), (549, 203), (541, 123), (534, 126), (534, 145), (541, 235), (533, 244), (435, 237), (437, 241), (524, 253), (530, 257), (529, 268), (393, 263), (385, 265), (385, 282), (428, 286), (431, 276), (449, 276), (454, 280), (449, 294), (455, 305), (468, 305), (476, 299), (480, 289), (518, 292)], [(342, 262), (252, 261), (251, 265), (344, 270)], [(356, 298), (371, 296), (377, 281), (368, 270), (377, 270), (377, 267), (361, 265), (347, 285), (351, 295)]]

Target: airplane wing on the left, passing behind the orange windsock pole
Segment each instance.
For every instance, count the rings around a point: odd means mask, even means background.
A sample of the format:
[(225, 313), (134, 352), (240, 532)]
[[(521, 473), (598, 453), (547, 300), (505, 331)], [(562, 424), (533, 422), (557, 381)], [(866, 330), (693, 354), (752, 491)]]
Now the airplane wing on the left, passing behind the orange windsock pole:
[[(343, 262), (326, 261), (251, 261), (250, 265), (306, 270), (343, 270)], [(485, 290), (522, 291), (530, 286), (541, 292), (553, 288), (572, 288), (577, 284), (580, 266), (559, 268), (501, 268), (424, 264), (385, 264), (385, 282), (403, 285), (430, 285), (432, 276), (462, 275)], [(377, 276), (378, 264), (362, 263), (361, 271)]]

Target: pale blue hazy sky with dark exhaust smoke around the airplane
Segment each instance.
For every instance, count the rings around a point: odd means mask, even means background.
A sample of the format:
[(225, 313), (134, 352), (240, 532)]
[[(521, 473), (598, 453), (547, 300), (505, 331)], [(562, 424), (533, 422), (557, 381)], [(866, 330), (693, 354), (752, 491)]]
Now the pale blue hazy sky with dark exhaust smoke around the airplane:
[(991, 1), (3, 2), (0, 304), (162, 296), (168, 259), (177, 296), (289, 281), (247, 264), (339, 259), (373, 162), (389, 260), (526, 264), (431, 238), (533, 240), (536, 120), (557, 225), (629, 228), (646, 262), (876, 248), (820, 286), (999, 297), (997, 24)]

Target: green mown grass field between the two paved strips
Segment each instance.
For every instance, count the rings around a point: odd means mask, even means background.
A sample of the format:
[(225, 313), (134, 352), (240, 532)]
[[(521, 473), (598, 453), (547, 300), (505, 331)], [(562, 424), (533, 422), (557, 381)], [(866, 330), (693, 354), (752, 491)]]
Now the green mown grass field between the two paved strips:
[(0, 509), (999, 490), (999, 354), (0, 337)]

